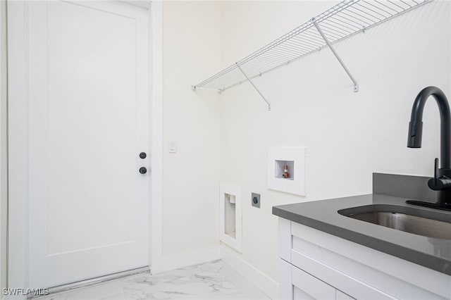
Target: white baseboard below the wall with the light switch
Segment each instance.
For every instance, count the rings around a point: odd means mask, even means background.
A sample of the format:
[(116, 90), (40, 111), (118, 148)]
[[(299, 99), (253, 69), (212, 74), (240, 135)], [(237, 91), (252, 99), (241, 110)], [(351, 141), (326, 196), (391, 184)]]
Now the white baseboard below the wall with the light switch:
[(154, 265), (151, 266), (151, 272), (152, 274), (156, 274), (190, 265), (198, 265), (199, 263), (206, 263), (207, 261), (216, 261), (217, 259), (220, 259), (219, 246), (174, 256), (163, 256), (158, 263), (158, 267), (154, 268)]

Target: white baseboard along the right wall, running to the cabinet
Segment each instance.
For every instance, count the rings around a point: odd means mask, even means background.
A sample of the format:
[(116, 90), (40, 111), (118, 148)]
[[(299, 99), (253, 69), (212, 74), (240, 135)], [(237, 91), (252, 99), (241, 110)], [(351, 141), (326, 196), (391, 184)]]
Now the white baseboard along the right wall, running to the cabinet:
[(235, 269), (237, 273), (240, 273), (242, 277), (245, 277), (249, 282), (252, 282), (252, 284), (258, 287), (261, 292), (264, 292), (266, 296), (271, 299), (278, 299), (278, 282), (262, 273), (250, 263), (247, 263), (247, 261), (238, 256), (238, 254), (228, 246), (221, 245), (220, 249), (221, 259), (224, 263), (230, 265), (230, 267)]

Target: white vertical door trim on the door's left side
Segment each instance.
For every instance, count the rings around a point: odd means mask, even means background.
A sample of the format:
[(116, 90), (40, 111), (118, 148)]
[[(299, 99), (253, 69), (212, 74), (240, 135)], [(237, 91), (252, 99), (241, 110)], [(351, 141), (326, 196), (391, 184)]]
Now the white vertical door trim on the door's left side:
[(8, 1), (7, 4), (8, 287), (27, 287), (28, 4), (26, 1)]

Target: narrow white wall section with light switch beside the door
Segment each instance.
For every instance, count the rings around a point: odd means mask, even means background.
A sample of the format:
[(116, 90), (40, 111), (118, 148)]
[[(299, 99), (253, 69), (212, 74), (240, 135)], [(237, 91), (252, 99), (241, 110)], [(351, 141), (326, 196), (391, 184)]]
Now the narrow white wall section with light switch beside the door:
[(163, 2), (163, 256), (218, 246), (219, 94), (190, 87), (221, 67), (220, 25), (219, 2)]

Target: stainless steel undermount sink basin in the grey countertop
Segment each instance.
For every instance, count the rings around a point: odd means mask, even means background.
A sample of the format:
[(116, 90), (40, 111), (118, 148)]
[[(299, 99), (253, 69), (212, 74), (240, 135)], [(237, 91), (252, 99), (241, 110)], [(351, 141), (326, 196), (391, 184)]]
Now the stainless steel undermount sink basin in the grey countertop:
[(349, 218), (413, 233), (414, 235), (451, 239), (451, 213), (385, 204), (345, 208), (338, 213)]

